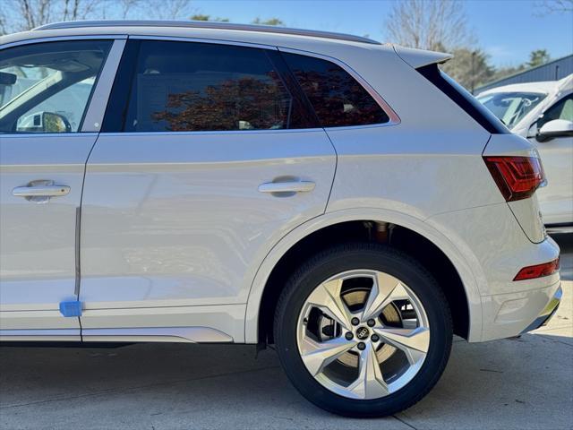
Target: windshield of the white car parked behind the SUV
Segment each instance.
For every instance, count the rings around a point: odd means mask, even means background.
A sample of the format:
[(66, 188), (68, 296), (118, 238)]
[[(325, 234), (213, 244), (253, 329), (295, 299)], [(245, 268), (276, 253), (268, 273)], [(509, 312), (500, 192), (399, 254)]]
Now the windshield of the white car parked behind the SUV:
[(546, 94), (539, 92), (496, 92), (477, 99), (508, 128), (513, 128), (545, 97)]

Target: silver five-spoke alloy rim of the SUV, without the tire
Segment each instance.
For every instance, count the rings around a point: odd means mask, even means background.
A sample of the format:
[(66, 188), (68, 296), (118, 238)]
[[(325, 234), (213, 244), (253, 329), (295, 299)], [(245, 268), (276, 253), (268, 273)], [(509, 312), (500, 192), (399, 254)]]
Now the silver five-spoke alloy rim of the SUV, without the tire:
[(345, 271), (322, 282), (299, 314), (304, 366), (329, 391), (371, 400), (412, 381), (430, 347), (421, 301), (381, 271)]

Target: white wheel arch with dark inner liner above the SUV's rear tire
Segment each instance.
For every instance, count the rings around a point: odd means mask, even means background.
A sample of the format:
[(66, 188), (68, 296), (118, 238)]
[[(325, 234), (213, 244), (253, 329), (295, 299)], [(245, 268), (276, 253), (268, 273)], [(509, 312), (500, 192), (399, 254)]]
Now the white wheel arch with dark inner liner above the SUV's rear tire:
[[(246, 343), (259, 343), (261, 339), (266, 337), (266, 333), (261, 332), (261, 330), (265, 330), (264, 326), (261, 329), (261, 323), (267, 320), (269, 313), (274, 313), (274, 307), (272, 307), (274, 305), (272, 303), (276, 297), (273, 297), (272, 291), (274, 290), (274, 295), (277, 296), (284, 287), (284, 282), (282, 286), (278, 286), (273, 280), (277, 280), (277, 277), (283, 275), (280, 271), (282, 270), (281, 268), (288, 267), (286, 264), (288, 259), (292, 258), (294, 254), (299, 256), (302, 254), (302, 258), (304, 258), (304, 252), (312, 252), (317, 242), (324, 247), (333, 243), (343, 243), (351, 238), (354, 241), (365, 240), (364, 236), (360, 236), (363, 233), (360, 233), (357, 228), (358, 224), (364, 223), (373, 223), (374, 229), (376, 225), (392, 226), (392, 231), (399, 231), (403, 239), (405, 236), (409, 236), (405, 243), (412, 244), (412, 238), (416, 238), (423, 241), (420, 243), (436, 248), (443, 255), (445, 261), (449, 262), (458, 276), (460, 287), (463, 288), (462, 292), (466, 300), (466, 332), (462, 333), (462, 335), (469, 341), (481, 339), (481, 298), (472, 266), (466, 262), (466, 258), (461, 254), (458, 246), (452, 243), (448, 236), (424, 223), (422, 219), (416, 219), (397, 211), (361, 208), (333, 211), (311, 219), (287, 233), (270, 250), (261, 263), (249, 292), (245, 312)], [(364, 228), (367, 231), (367, 227), (364, 226)], [(372, 234), (377, 233), (375, 231), (372, 233), (371, 231), (370, 235)], [(340, 236), (336, 237), (336, 240), (332, 242), (333, 235)], [(411, 249), (406, 249), (406, 252), (408, 251), (411, 252)], [(284, 275), (286, 276), (286, 274)], [(269, 295), (271, 299), (267, 301)], [(269, 304), (271, 305), (269, 306)], [(456, 315), (454, 317), (456, 318)], [(463, 318), (464, 316), (461, 315), (461, 317)]]

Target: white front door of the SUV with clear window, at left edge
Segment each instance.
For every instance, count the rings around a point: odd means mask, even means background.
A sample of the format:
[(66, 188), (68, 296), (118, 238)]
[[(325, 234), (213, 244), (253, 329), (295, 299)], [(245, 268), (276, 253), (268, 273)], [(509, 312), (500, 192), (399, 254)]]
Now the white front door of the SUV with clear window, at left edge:
[[(0, 50), (0, 331), (8, 340), (79, 340), (60, 303), (78, 293), (81, 133), (113, 40), (22, 42)], [(50, 337), (50, 338), (47, 338)]]

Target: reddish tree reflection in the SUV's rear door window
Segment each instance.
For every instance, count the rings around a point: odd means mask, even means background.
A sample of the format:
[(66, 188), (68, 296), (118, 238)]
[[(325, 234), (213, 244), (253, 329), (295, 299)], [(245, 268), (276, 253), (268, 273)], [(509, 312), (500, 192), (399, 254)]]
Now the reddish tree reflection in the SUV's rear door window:
[(151, 117), (165, 121), (173, 132), (280, 129), (288, 127), (290, 103), (290, 95), (271, 74), (271, 80), (242, 77), (202, 91), (169, 93), (165, 110)]

